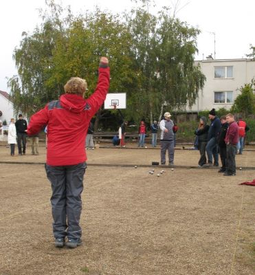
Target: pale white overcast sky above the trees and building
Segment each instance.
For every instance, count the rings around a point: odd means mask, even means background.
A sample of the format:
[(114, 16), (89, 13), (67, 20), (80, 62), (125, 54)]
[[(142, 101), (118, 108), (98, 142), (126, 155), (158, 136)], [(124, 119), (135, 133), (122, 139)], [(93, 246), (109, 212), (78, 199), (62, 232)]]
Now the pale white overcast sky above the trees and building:
[[(60, 1), (56, 0), (57, 3)], [(171, 6), (177, 0), (157, 0), (155, 13), (162, 6)], [(131, 0), (62, 0), (70, 5), (74, 14), (93, 10), (98, 5), (101, 10), (122, 12), (134, 5)], [(12, 54), (19, 47), (21, 33), (32, 33), (40, 22), (38, 8), (45, 7), (45, 0), (0, 1), (0, 90), (8, 91), (6, 77), (16, 74)], [(196, 59), (214, 56), (214, 34), (216, 38), (216, 58), (245, 58), (250, 53), (250, 44), (255, 45), (254, 10), (255, 0), (181, 0), (177, 17), (201, 30), (198, 39), (199, 54)]]

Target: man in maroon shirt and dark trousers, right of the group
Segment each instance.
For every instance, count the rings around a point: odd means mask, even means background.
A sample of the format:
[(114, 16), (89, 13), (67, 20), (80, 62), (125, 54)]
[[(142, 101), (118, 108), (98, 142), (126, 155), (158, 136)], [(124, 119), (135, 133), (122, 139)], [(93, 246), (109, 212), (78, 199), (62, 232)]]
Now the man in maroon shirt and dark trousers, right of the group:
[(236, 145), (239, 142), (239, 126), (234, 120), (234, 115), (228, 113), (226, 120), (229, 124), (225, 136), (225, 143), (227, 144), (227, 167), (224, 176), (236, 175)]

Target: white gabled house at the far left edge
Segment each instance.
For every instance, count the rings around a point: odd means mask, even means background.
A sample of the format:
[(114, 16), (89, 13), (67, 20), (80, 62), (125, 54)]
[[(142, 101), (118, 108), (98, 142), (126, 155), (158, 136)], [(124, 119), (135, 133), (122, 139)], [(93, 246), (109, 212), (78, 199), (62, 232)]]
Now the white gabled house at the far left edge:
[(0, 111), (0, 120), (2, 122), (6, 120), (7, 124), (9, 124), (10, 119), (14, 118), (14, 109), (6, 91), (0, 91)]

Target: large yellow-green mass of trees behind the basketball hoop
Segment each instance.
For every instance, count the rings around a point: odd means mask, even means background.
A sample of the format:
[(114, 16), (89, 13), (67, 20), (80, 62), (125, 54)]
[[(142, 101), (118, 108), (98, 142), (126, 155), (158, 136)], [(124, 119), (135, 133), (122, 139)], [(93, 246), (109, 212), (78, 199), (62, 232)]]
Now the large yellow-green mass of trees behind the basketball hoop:
[[(100, 56), (109, 57), (110, 92), (126, 92), (125, 119), (152, 121), (163, 106), (181, 109), (193, 104), (205, 76), (194, 65), (199, 30), (171, 17), (164, 9), (148, 12), (151, 1), (140, 1), (124, 17), (96, 9), (74, 17), (54, 1), (43, 23), (32, 34), (23, 34), (14, 50), (18, 76), (12, 76), (14, 108), (30, 116), (63, 94), (72, 76), (85, 78), (89, 96), (98, 79)], [(100, 118), (98, 113), (97, 118)]]

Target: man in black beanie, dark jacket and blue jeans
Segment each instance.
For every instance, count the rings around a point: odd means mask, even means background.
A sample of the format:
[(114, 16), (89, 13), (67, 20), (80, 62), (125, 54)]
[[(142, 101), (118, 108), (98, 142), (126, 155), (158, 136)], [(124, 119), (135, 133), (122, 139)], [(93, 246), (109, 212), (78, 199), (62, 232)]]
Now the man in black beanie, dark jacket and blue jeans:
[[(210, 128), (208, 131), (208, 143), (206, 145), (208, 164), (204, 164), (203, 167), (219, 166), (217, 137), (221, 129), (221, 121), (217, 117), (215, 109), (212, 109), (209, 112), (208, 117), (211, 120)], [(212, 163), (212, 157), (214, 158), (214, 163)]]

